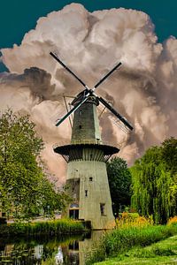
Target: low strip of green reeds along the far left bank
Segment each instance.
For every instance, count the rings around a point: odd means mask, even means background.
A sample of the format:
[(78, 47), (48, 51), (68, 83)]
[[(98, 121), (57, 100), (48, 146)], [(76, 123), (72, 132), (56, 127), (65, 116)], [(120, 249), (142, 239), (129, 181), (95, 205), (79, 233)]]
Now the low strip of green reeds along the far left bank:
[(86, 231), (83, 223), (70, 219), (60, 219), (36, 223), (8, 223), (0, 225), (0, 236), (35, 236), (73, 234)]

